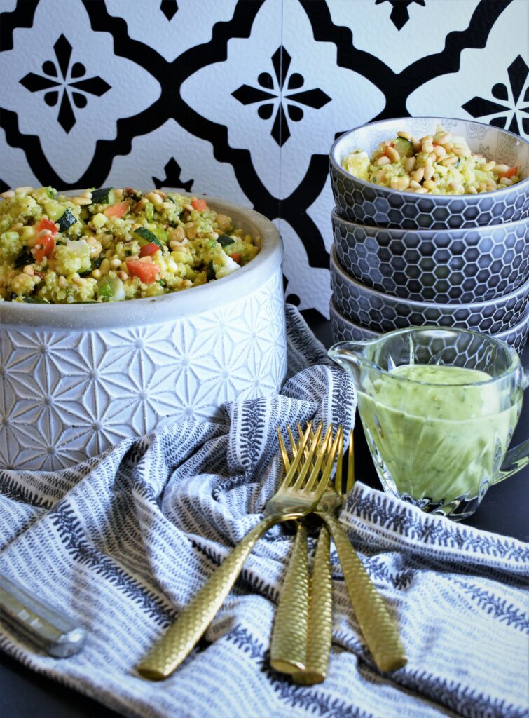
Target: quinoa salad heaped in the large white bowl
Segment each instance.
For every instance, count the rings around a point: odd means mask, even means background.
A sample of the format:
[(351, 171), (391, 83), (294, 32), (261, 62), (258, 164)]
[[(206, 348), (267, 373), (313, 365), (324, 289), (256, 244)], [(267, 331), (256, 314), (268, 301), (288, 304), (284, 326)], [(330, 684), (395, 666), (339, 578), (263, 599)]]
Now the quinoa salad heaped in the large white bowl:
[(131, 187), (18, 187), (0, 195), (0, 301), (75, 304), (159, 297), (231, 274), (258, 238), (207, 201)]

